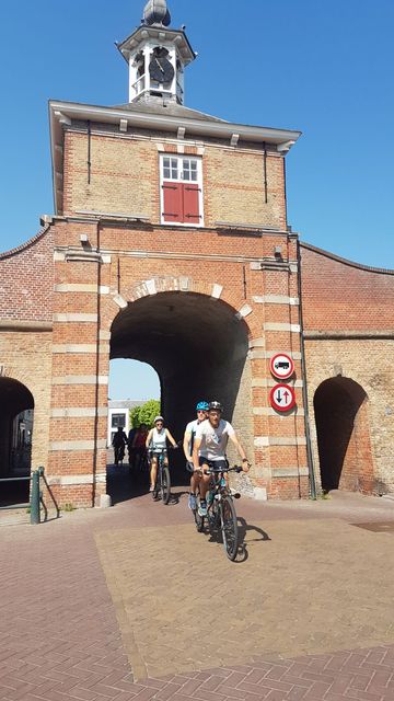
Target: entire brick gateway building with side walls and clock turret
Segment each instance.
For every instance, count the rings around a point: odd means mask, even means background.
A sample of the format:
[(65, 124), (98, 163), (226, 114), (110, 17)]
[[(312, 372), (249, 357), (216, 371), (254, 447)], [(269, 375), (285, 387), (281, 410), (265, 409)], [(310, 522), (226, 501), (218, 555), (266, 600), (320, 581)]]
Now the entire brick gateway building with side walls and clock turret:
[[(164, 0), (118, 48), (129, 102), (49, 103), (56, 214), (0, 255), (1, 474), (15, 416), (34, 410), (32, 468), (60, 504), (100, 504), (109, 359), (135, 358), (158, 371), (177, 437), (197, 399), (224, 403), (255, 497), (393, 492), (394, 272), (291, 231), (300, 133), (184, 106), (195, 54)], [(283, 382), (277, 354), (294, 363)], [(287, 412), (278, 382), (296, 394)]]

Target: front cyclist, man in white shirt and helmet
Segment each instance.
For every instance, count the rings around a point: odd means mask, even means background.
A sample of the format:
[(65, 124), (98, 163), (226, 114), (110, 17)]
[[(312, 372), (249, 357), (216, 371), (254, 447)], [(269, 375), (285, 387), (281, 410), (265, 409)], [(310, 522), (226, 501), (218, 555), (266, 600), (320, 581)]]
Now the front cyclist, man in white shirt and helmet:
[(229, 462), (225, 457), (225, 448), (229, 438), (242, 459), (243, 472), (248, 472), (250, 470), (250, 462), (235, 430), (228, 421), (221, 417), (222, 413), (223, 407), (220, 402), (210, 402), (208, 405), (208, 421), (202, 422), (197, 427), (194, 441), (193, 464), (195, 471), (201, 475), (199, 482), (200, 503), (198, 507), (200, 516), (207, 515), (206, 496), (210, 483), (210, 475), (206, 474), (205, 471), (209, 468), (218, 469), (221, 467), (223, 472), (227, 471)]

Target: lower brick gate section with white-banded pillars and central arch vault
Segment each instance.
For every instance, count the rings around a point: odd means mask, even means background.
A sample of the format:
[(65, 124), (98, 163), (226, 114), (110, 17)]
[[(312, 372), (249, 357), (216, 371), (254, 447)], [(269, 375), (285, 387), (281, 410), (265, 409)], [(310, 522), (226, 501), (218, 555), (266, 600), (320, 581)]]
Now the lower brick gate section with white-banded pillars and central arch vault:
[[(86, 411), (93, 410), (95, 401), (101, 410), (106, 406), (106, 384), (95, 395), (93, 379), (96, 367), (103, 382), (107, 379), (109, 341), (113, 357), (135, 357), (155, 367), (162, 381), (163, 411), (177, 438), (197, 399), (215, 395), (225, 403), (227, 417), (233, 418), (254, 463), (250, 489), (265, 487), (275, 496), (308, 494), (302, 394), (297, 390), (299, 417), (293, 413), (279, 417), (269, 406), (269, 389), (275, 383), (268, 368), (270, 355), (283, 350), (297, 356), (300, 348), (298, 308), (290, 306), (290, 296), (297, 296), (297, 271), (291, 272), (289, 263), (296, 260), (294, 240), (286, 233), (223, 235), (207, 228), (141, 228), (109, 221), (97, 227), (69, 220), (58, 222), (56, 229), (53, 413), (59, 414), (65, 406), (82, 412), (78, 417), (51, 420), (50, 476), (61, 501), (79, 498), (82, 486), (70, 481), (94, 480), (94, 472), (100, 481), (83, 487), (83, 504), (86, 498), (97, 502), (105, 489), (105, 418), (94, 422)], [(66, 260), (68, 249), (78, 249), (83, 258), (81, 232), (88, 233), (93, 249), (100, 241), (105, 251), (100, 267), (89, 262), (89, 251), (85, 262)], [(273, 255), (279, 244), (282, 261)], [(267, 269), (253, 267), (252, 261), (262, 257), (269, 260)], [(161, 308), (162, 298), (166, 308)], [(141, 306), (143, 313), (138, 312)], [(240, 310), (241, 319), (246, 314), (244, 322), (236, 319)], [(74, 317), (81, 313), (88, 317)], [(162, 313), (164, 325), (158, 327)], [(237, 336), (231, 329), (241, 323), (245, 324), (245, 346), (242, 357), (234, 357)], [(160, 331), (153, 345), (152, 326), (153, 332)], [(163, 345), (161, 338), (166, 335), (176, 340), (175, 346)], [(81, 344), (84, 347), (78, 348)], [(299, 378), (298, 357), (296, 365)], [(253, 387), (254, 381), (262, 388)], [(271, 446), (268, 435), (278, 436), (278, 441)], [(90, 451), (78, 443), (81, 437), (89, 441)], [(263, 437), (266, 445), (260, 447)], [(297, 445), (299, 439), (301, 445)], [(96, 464), (92, 463), (93, 445)]]

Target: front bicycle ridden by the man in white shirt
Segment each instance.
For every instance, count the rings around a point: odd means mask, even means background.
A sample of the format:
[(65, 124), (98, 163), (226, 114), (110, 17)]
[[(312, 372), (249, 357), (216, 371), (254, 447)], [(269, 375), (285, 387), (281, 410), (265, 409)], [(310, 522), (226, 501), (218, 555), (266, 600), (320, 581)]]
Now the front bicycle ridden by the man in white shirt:
[[(242, 472), (242, 468), (234, 466), (225, 472)], [(234, 496), (240, 498), (240, 494), (232, 495), (227, 485), (224, 472), (222, 469), (209, 468), (205, 470), (206, 474), (211, 475), (209, 492), (207, 494), (207, 516), (200, 516), (198, 513), (199, 495), (197, 496), (197, 507), (194, 510), (196, 528), (198, 532), (204, 531), (205, 519), (208, 520), (208, 527), (211, 535), (216, 535), (219, 529), (222, 535), (223, 548), (225, 554), (232, 562), (236, 558), (239, 550), (237, 520), (234, 506)]]

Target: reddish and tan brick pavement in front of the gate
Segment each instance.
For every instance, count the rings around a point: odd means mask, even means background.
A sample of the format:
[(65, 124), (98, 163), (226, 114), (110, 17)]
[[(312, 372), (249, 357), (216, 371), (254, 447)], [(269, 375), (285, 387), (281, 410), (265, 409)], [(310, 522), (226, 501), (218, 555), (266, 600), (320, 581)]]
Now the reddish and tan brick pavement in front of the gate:
[(241, 499), (234, 564), (182, 489), (0, 515), (0, 699), (393, 701), (393, 508)]

